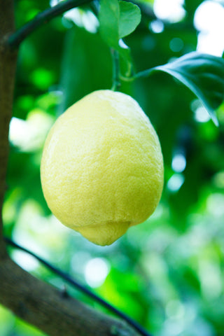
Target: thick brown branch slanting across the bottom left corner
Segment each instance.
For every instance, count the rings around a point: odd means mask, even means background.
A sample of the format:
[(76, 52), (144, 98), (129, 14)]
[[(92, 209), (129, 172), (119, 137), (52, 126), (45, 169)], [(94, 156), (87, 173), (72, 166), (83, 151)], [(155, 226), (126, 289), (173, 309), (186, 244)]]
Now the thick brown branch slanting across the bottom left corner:
[(10, 258), (0, 263), (0, 302), (52, 336), (139, 336), (123, 321), (62, 295), (31, 276)]

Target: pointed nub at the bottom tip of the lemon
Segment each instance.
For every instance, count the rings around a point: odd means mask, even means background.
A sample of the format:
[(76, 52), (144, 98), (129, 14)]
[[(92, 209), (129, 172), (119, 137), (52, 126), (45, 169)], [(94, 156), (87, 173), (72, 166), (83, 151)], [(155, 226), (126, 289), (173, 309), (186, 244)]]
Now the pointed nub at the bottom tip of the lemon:
[(108, 222), (104, 225), (84, 226), (82, 228), (76, 227), (75, 230), (80, 232), (83, 237), (89, 239), (94, 244), (101, 246), (111, 245), (120, 236), (124, 235), (130, 227), (129, 222)]

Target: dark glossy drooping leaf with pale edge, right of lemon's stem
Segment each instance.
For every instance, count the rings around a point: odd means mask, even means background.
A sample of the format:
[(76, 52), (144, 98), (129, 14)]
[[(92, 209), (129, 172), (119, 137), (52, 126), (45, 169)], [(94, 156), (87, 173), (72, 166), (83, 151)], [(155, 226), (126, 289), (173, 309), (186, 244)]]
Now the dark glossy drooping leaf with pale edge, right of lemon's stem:
[(190, 52), (174, 62), (156, 66), (189, 87), (202, 101), (212, 120), (218, 125), (214, 110), (224, 99), (224, 59), (199, 52)]

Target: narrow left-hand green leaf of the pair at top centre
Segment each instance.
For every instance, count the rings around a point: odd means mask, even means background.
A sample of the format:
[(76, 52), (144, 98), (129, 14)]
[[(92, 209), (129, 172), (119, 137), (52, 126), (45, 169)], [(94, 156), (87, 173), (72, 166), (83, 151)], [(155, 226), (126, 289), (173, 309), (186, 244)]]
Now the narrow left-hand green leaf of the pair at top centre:
[(99, 31), (104, 41), (114, 49), (118, 49), (119, 16), (118, 0), (100, 1)]

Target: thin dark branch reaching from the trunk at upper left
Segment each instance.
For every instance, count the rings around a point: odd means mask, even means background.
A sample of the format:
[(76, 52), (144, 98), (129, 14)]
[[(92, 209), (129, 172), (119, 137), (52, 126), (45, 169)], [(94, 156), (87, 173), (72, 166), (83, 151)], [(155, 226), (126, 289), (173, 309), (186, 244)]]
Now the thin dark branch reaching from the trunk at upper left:
[(12, 35), (10, 35), (8, 37), (8, 45), (10, 46), (10, 48), (18, 48), (20, 43), (34, 30), (36, 30), (38, 27), (41, 27), (41, 25), (48, 23), (53, 18), (66, 12), (66, 10), (81, 6), (91, 1), (92, 0), (67, 0), (58, 3), (56, 6), (44, 10), (43, 12), (36, 15), (33, 20), (27, 22), (27, 24), (15, 31), (15, 33), (13, 33)]

